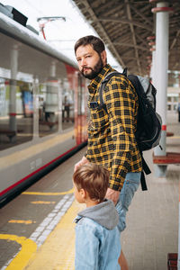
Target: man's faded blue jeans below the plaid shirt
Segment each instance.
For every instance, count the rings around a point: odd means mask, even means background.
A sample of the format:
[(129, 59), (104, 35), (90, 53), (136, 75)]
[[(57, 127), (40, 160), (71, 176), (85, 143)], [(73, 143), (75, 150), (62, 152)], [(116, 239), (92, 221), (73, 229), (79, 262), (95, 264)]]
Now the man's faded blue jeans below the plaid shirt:
[(121, 189), (120, 198), (116, 204), (116, 209), (120, 217), (118, 224), (120, 232), (126, 228), (126, 212), (129, 209), (134, 193), (139, 188), (140, 175), (141, 173), (128, 173)]

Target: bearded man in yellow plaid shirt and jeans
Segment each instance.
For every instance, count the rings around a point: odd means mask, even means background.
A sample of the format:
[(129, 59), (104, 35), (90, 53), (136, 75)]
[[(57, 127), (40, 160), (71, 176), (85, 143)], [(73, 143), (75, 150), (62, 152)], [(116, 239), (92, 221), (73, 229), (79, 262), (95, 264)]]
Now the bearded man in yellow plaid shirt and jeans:
[[(131, 199), (139, 187), (142, 170), (141, 157), (134, 132), (137, 126), (138, 96), (125, 76), (112, 76), (103, 91), (107, 112), (100, 106), (99, 87), (103, 78), (114, 71), (107, 64), (103, 41), (86, 36), (76, 41), (75, 54), (83, 76), (90, 79), (88, 107), (90, 124), (85, 157), (78, 166), (93, 162), (110, 171), (106, 198), (121, 205), (120, 226), (125, 229), (125, 216)], [(120, 204), (121, 203), (121, 204)], [(119, 209), (120, 211), (120, 209)], [(128, 265), (121, 251), (121, 270)]]

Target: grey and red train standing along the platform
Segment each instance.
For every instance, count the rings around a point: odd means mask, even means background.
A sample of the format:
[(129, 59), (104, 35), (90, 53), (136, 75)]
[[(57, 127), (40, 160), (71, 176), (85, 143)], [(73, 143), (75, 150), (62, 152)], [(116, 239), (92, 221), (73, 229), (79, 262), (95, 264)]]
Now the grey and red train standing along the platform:
[(87, 142), (85, 78), (14, 18), (0, 10), (1, 205)]

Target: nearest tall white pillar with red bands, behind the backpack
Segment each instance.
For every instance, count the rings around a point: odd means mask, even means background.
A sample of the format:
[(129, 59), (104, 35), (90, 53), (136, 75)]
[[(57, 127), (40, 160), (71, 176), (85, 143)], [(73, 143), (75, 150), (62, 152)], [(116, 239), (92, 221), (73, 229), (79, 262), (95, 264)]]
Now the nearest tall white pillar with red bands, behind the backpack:
[[(166, 156), (166, 89), (170, 11), (172, 11), (172, 8), (168, 6), (167, 2), (157, 3), (157, 7), (152, 9), (152, 12), (156, 14), (156, 76), (154, 84), (157, 88), (157, 112), (162, 117), (162, 135), (160, 139), (162, 149), (155, 148), (155, 156)], [(155, 175), (165, 177), (166, 166), (155, 165)]]

